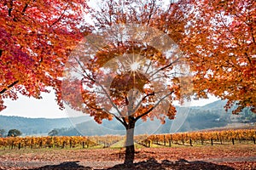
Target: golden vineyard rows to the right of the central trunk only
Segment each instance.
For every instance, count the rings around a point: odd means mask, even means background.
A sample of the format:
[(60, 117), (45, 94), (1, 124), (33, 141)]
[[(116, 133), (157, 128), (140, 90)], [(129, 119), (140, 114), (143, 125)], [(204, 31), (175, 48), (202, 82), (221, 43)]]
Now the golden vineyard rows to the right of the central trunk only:
[(173, 133), (173, 134), (154, 134), (148, 137), (140, 135), (136, 137), (137, 143), (150, 147), (152, 144), (169, 145), (172, 144), (235, 144), (235, 141), (253, 141), (255, 144), (256, 130), (255, 129), (240, 129), (240, 130), (224, 130), (210, 132), (190, 132), (190, 133)]

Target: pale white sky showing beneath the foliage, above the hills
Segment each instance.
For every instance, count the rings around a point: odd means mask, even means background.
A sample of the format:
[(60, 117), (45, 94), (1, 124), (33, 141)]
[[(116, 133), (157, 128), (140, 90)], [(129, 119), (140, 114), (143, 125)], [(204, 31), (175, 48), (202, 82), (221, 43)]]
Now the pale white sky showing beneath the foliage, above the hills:
[[(55, 94), (43, 94), (43, 99), (33, 99), (20, 95), (17, 100), (6, 100), (4, 103), (7, 108), (0, 111), (0, 115), (4, 116), (25, 116), (25, 117), (46, 117), (46, 118), (60, 118), (70, 116), (70, 109), (68, 111), (61, 111), (55, 102)], [(193, 100), (190, 105), (207, 105), (217, 98), (210, 97), (210, 99)], [(68, 114), (67, 114), (68, 113)]]

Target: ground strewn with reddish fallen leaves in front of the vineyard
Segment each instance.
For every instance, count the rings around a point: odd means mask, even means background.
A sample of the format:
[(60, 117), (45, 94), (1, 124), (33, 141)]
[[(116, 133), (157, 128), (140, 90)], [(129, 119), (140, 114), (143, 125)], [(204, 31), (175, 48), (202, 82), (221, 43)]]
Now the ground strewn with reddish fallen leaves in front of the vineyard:
[(256, 169), (256, 145), (207, 145), (136, 150), (123, 165), (124, 149), (0, 150), (0, 169)]

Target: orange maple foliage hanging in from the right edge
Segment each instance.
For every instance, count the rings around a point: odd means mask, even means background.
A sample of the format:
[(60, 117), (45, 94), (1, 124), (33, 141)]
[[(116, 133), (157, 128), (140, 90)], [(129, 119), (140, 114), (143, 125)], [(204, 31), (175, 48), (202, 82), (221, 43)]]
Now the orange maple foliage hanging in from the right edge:
[(256, 2), (187, 1), (186, 37), (179, 47), (194, 71), (197, 97), (228, 99), (233, 113), (256, 113)]

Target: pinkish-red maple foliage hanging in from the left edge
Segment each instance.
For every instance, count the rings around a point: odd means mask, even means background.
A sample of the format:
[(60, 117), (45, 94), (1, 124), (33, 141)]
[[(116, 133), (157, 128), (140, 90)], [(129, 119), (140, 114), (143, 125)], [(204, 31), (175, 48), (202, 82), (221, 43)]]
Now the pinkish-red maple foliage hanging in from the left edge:
[(61, 74), (81, 39), (84, 0), (3, 0), (0, 3), (0, 111), (17, 94), (40, 99), (55, 90), (61, 103)]

